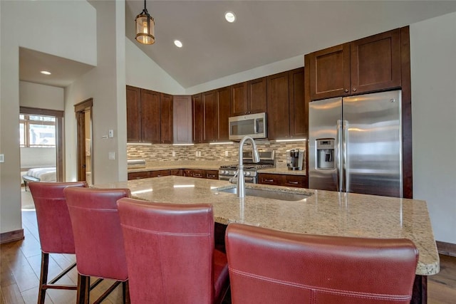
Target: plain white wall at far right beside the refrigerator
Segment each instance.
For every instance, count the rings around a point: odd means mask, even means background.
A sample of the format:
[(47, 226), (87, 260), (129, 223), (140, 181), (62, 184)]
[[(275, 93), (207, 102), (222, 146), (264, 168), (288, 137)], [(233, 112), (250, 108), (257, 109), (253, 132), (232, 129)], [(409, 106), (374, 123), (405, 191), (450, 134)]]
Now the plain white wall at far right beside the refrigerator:
[(413, 196), (456, 243), (456, 13), (410, 25)]

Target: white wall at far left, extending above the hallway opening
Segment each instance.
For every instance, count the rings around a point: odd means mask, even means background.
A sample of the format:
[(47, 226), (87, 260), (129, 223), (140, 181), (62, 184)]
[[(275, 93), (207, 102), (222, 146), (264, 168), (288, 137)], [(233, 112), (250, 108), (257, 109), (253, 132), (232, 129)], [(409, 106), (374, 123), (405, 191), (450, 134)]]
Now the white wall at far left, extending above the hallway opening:
[[(0, 163), (0, 233), (5, 233), (22, 228), (19, 47), (89, 65), (96, 65), (97, 58), (95, 9), (86, 1), (0, 1), (0, 14), (0, 153), (5, 157)], [(26, 35), (24, 20), (31, 24)]]

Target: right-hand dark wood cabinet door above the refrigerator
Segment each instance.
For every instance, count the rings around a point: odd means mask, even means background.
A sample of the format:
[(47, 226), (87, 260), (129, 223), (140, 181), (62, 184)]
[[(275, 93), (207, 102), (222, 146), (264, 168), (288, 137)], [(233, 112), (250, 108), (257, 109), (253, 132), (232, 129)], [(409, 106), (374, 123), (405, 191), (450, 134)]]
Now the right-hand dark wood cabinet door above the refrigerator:
[(352, 93), (400, 87), (400, 28), (353, 41), (350, 50)]

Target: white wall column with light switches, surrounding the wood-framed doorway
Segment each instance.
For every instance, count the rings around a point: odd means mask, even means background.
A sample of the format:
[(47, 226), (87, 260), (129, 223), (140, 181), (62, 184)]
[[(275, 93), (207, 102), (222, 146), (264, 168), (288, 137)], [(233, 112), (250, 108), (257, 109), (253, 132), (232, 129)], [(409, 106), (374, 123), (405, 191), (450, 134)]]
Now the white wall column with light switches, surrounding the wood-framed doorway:
[[(97, 66), (65, 89), (66, 180), (76, 180), (74, 105), (93, 98), (93, 182), (127, 180), (125, 2), (90, 1), (96, 9)], [(103, 139), (108, 130), (114, 137)], [(108, 159), (115, 152), (115, 159)]]

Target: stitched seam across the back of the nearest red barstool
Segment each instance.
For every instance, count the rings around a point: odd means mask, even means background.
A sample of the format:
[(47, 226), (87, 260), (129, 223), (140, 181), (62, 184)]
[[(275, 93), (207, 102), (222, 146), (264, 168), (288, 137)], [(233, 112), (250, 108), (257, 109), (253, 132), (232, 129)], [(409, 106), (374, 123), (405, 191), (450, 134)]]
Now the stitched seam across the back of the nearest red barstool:
[(267, 278), (267, 277), (255, 275), (252, 273), (245, 273), (244, 271), (238, 271), (237, 269), (233, 269), (232, 267), (229, 267), (229, 271), (231, 271), (232, 273), (237, 274), (239, 276), (254, 278), (254, 279), (257, 279), (260, 281), (268, 281), (268, 282), (276, 283), (279, 285), (289, 285), (291, 287), (309, 289), (309, 290), (313, 290), (314, 292), (317, 292), (317, 293), (329, 293), (329, 294), (334, 294), (334, 295), (346, 295), (346, 296), (353, 297), (353, 298), (369, 298), (369, 299), (377, 299), (377, 300), (410, 300), (411, 299), (410, 295), (385, 295), (385, 294), (380, 294), (380, 293), (360, 293), (360, 292), (356, 292), (356, 291), (337, 290), (337, 289), (332, 289), (332, 288), (321, 288), (321, 287), (316, 287), (316, 286), (312, 286), (312, 285), (304, 285), (304, 284), (300, 284), (300, 283), (294, 283), (294, 282), (289, 282), (289, 281), (277, 280), (277, 279), (273, 279), (273, 278)]

